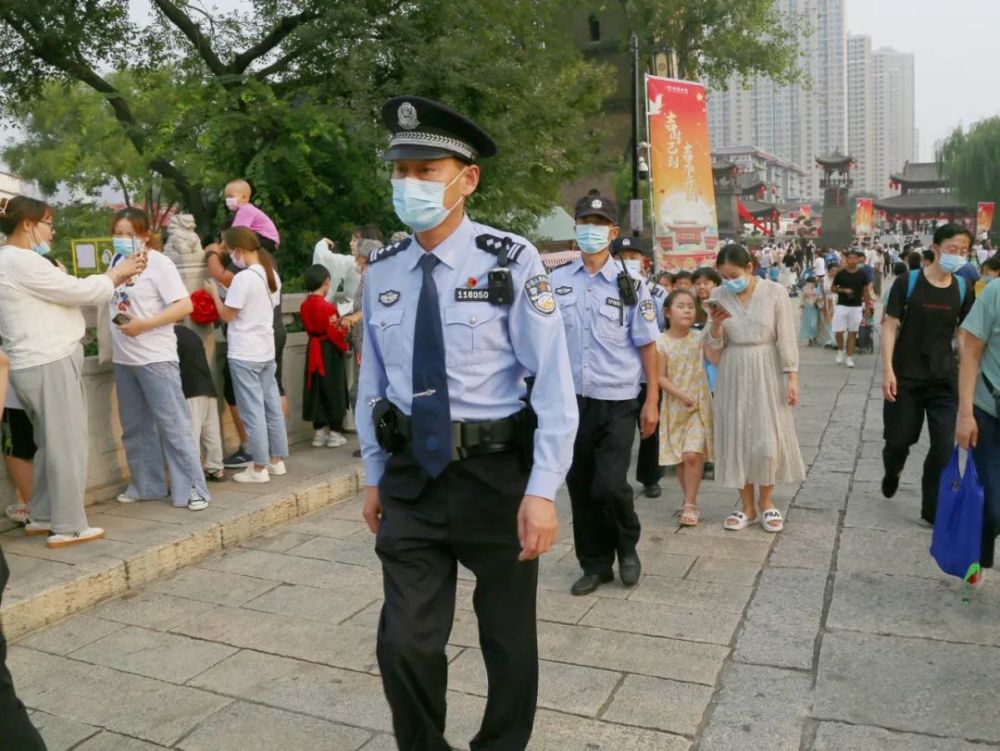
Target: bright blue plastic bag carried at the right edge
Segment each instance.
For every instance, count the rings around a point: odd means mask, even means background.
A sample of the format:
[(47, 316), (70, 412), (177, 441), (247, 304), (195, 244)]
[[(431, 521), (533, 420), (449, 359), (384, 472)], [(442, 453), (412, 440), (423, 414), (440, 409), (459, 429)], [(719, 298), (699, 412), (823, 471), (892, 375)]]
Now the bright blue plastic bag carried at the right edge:
[(941, 473), (931, 555), (946, 574), (968, 583), (979, 571), (983, 539), (983, 486), (970, 456), (959, 473), (958, 446)]

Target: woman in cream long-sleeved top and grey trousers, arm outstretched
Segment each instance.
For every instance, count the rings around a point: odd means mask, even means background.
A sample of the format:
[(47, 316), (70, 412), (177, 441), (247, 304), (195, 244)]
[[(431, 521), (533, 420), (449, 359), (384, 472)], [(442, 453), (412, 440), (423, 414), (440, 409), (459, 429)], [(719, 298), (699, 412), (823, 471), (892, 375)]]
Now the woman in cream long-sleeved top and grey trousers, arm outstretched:
[(107, 303), (146, 260), (70, 276), (43, 257), (55, 237), (52, 207), (27, 196), (0, 200), (0, 232), (7, 237), (0, 248), (0, 338), (38, 446), (25, 533), (45, 535), (51, 548), (98, 540), (104, 530), (87, 524), (83, 508), (89, 440), (80, 308)]

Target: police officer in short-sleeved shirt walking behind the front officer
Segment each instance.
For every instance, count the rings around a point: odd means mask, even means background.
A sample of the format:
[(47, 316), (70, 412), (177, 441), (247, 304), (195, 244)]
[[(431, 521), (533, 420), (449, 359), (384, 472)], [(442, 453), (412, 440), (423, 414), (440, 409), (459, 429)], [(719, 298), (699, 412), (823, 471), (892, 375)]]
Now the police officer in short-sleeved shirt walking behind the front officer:
[[(639, 581), (639, 517), (628, 468), (636, 414), (643, 436), (657, 429), (656, 309), (645, 284), (611, 257), (618, 237), (618, 207), (596, 191), (576, 204), (576, 244), (581, 256), (552, 271), (562, 311), (580, 427), (566, 476), (573, 508), (573, 538), (583, 576), (572, 586), (586, 595), (614, 579)], [(646, 374), (640, 405), (639, 379)]]

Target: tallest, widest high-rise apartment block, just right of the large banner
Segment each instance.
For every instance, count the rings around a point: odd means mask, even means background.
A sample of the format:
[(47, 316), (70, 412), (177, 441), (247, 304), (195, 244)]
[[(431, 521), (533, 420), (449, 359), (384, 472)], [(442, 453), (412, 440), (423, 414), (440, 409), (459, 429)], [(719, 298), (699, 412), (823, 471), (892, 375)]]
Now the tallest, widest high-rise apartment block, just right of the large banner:
[(754, 146), (810, 173), (809, 194), (819, 197), (817, 154), (848, 148), (847, 30), (844, 0), (777, 0), (812, 25), (802, 42), (801, 66), (812, 86), (777, 86), (756, 78), (744, 87), (733, 77), (708, 98), (712, 147)]

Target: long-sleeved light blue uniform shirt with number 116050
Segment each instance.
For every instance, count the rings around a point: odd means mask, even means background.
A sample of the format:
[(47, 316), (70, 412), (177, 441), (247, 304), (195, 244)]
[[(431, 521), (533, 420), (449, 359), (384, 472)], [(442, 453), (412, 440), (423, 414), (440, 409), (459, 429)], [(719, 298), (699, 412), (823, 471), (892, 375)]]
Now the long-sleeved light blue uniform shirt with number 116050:
[[(476, 246), (479, 235), (509, 237), (523, 246), (508, 265), (512, 305), (486, 301), (487, 275), (497, 257)], [(403, 241), (405, 244), (407, 241)], [(368, 485), (377, 485), (387, 453), (375, 441), (371, 402), (388, 398), (405, 414), (413, 401), (413, 338), (424, 249), (388, 246), (365, 277), (364, 346), (358, 383), (358, 438)], [(448, 396), (453, 422), (499, 420), (524, 408), (525, 377), (535, 376), (531, 404), (538, 415), (534, 466), (526, 494), (554, 499), (573, 460), (578, 421), (566, 336), (538, 251), (527, 240), (473, 223), (468, 217), (433, 251), (441, 261), (434, 282), (444, 327)]]

